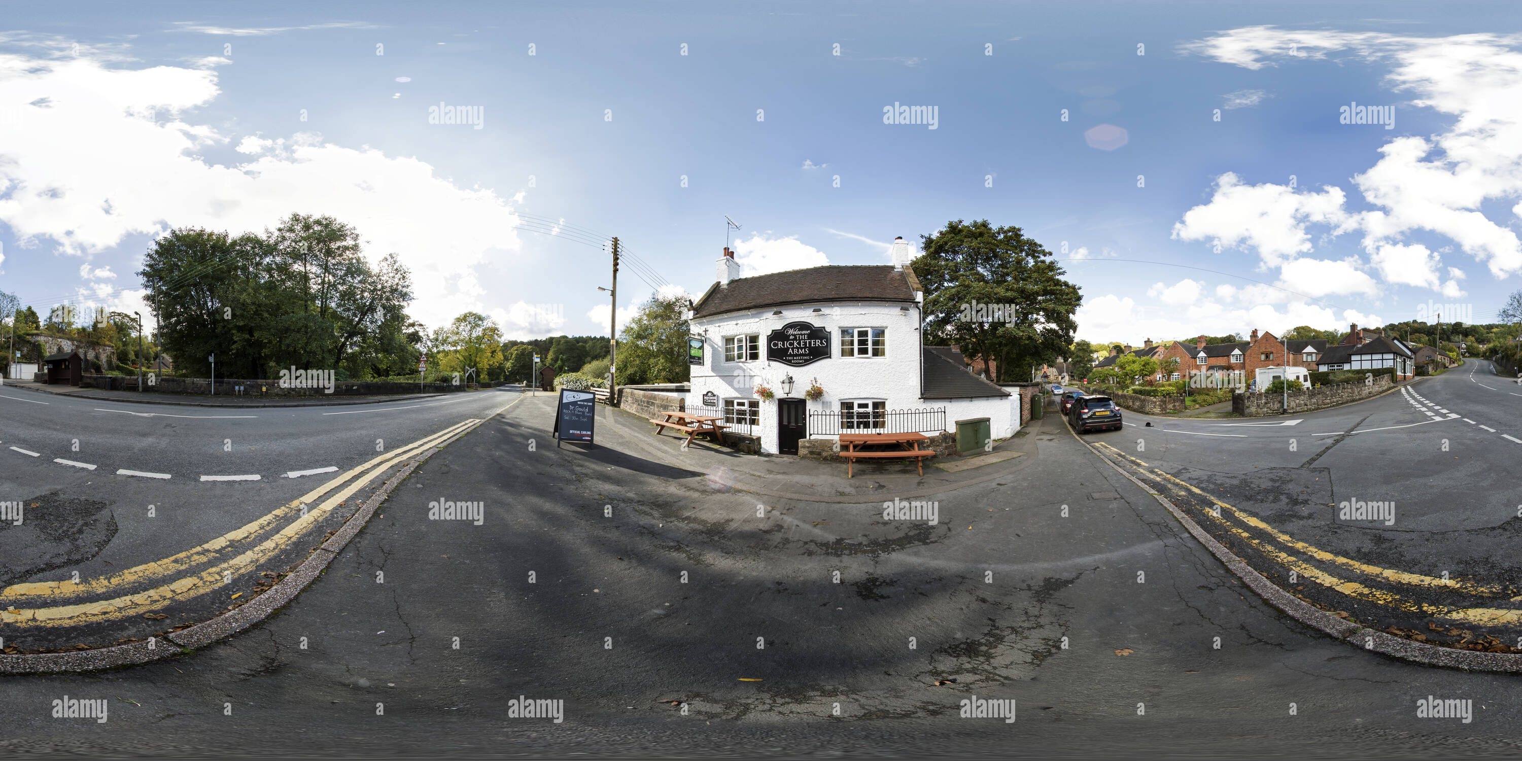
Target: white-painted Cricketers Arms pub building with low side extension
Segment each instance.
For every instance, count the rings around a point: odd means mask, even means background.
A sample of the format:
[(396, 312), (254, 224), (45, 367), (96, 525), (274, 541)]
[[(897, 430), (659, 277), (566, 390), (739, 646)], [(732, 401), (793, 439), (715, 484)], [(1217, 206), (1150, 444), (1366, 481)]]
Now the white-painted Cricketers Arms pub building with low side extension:
[(935, 435), (980, 417), (994, 438), (1014, 435), (1020, 396), (974, 376), (951, 347), (924, 345), (912, 257), (900, 237), (892, 265), (738, 277), (724, 248), (718, 282), (688, 314), (686, 409), (723, 416), (767, 454), (842, 432)]

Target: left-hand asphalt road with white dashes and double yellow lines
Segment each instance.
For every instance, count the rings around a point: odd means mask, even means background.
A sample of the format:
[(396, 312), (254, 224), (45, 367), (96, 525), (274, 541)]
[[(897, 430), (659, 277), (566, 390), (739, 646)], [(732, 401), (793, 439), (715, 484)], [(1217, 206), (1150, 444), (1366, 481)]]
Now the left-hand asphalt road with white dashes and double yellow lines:
[[(0, 502), (23, 505), (18, 522), (0, 522), (5, 647), (100, 645), (204, 621), (341, 525), (390, 455), (516, 396), (221, 409), (0, 387)], [(359, 481), (288, 530), (288, 516)]]

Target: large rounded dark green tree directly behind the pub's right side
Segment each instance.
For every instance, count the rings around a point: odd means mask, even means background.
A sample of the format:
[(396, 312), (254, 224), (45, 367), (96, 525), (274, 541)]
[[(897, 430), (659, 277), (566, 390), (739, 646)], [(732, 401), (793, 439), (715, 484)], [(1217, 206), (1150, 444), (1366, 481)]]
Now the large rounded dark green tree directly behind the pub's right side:
[[(913, 269), (925, 289), (925, 329), (933, 339), (960, 347), (971, 359), (998, 362), (998, 380), (1029, 377), (1032, 365), (1050, 362), (1073, 342), (1079, 288), (1052, 253), (1018, 227), (986, 219), (947, 222), (922, 236)], [(979, 321), (973, 304), (998, 304), (998, 321)], [(971, 312), (971, 314), (970, 314)]]

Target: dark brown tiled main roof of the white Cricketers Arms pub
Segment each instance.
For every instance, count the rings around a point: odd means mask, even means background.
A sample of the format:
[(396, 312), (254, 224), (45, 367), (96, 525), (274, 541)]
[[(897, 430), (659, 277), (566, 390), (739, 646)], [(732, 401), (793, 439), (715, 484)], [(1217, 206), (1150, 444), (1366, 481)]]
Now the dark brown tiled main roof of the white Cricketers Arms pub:
[(693, 306), (693, 317), (817, 301), (913, 301), (906, 269), (892, 265), (829, 265), (714, 283)]

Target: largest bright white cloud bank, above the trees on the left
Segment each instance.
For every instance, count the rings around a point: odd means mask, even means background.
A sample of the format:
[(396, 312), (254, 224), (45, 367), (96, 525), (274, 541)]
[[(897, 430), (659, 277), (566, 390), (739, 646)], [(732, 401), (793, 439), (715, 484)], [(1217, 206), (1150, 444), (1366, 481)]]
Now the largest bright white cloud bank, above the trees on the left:
[[(169, 227), (242, 233), (292, 212), (332, 215), (359, 230), (373, 260), (399, 254), (412, 272), (416, 318), (443, 324), (489, 310), (476, 268), (519, 250), (504, 198), (458, 187), (417, 158), (306, 132), (239, 139), (247, 163), (212, 164), (199, 151), (234, 135), (186, 114), (218, 94), (215, 70), (0, 55), (0, 113), (18, 114), (0, 122), (0, 222), (23, 247), (52, 239), (87, 254)], [(29, 105), (41, 99), (46, 108)]]

